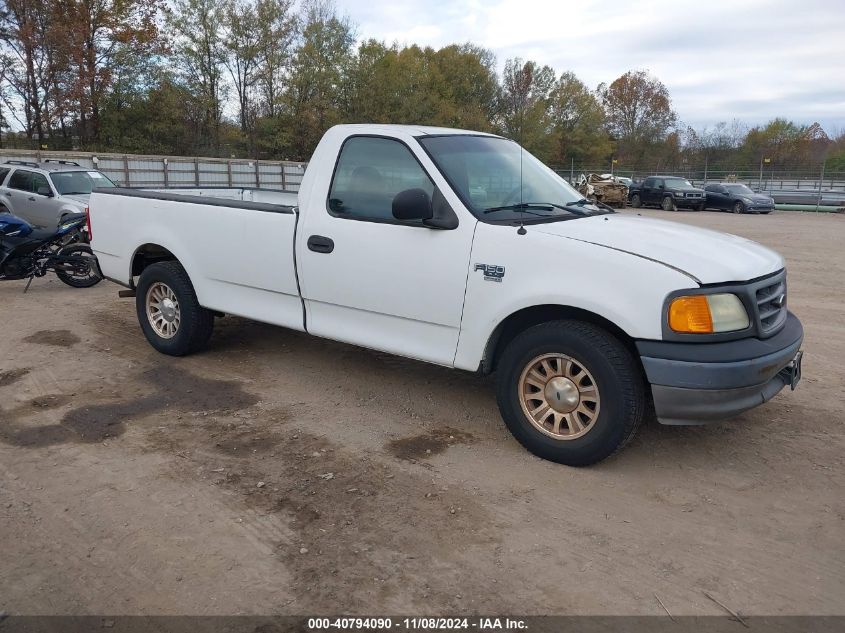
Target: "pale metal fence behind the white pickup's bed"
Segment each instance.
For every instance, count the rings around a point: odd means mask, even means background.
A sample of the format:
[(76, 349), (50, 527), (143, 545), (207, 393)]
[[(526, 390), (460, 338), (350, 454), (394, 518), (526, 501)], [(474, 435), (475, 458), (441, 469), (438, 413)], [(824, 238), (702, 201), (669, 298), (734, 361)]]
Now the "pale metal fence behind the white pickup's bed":
[(299, 190), (307, 165), (240, 158), (0, 149), (0, 163), (47, 159), (71, 160), (97, 169), (123, 187), (257, 187), (285, 191)]

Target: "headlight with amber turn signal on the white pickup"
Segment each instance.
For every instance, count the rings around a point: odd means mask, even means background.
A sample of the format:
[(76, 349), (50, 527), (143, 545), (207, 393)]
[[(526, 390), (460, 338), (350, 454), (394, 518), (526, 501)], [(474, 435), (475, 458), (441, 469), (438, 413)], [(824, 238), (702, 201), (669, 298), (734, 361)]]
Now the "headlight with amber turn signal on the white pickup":
[(745, 306), (733, 294), (677, 297), (669, 304), (669, 327), (682, 334), (735, 332), (749, 324)]

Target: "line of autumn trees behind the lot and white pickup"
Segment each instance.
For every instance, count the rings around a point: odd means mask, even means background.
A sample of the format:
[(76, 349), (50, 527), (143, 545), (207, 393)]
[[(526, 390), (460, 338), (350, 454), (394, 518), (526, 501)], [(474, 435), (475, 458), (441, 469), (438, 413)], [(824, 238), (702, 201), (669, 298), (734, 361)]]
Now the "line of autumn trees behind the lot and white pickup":
[(307, 160), (337, 123), (469, 128), (545, 162), (845, 170), (845, 134), (774, 119), (693, 129), (632, 70), (358, 37), (331, 0), (0, 0), (0, 139), (47, 149)]

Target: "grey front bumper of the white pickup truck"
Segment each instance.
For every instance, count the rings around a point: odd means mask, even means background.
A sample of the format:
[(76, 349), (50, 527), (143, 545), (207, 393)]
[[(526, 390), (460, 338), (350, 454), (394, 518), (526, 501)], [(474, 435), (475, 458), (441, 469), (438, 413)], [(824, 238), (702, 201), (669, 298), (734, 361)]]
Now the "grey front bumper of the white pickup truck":
[(703, 424), (732, 417), (792, 389), (801, 378), (804, 329), (791, 312), (768, 339), (724, 343), (639, 341), (657, 419)]

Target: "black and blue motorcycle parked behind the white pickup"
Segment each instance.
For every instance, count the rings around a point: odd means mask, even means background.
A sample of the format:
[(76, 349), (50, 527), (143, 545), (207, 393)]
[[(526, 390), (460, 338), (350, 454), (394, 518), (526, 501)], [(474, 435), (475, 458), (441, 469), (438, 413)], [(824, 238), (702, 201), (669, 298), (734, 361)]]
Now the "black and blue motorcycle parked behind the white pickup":
[(35, 277), (53, 271), (68, 286), (95, 286), (102, 276), (85, 225), (84, 213), (69, 216), (52, 231), (0, 214), (0, 280), (28, 278), (26, 292)]

